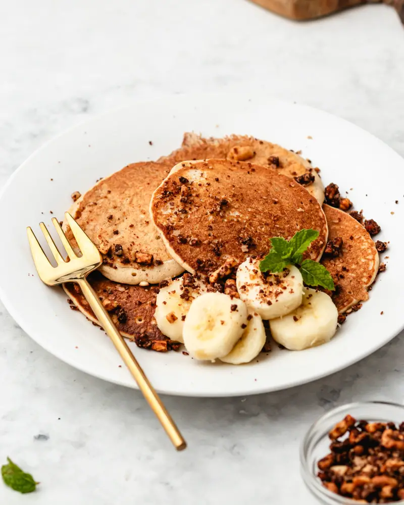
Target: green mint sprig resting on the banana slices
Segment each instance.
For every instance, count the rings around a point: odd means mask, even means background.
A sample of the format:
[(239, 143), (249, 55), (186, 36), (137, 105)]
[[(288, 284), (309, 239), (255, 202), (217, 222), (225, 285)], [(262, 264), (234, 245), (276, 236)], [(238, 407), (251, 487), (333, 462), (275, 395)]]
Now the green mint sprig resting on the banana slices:
[(330, 272), (316, 261), (303, 261), (303, 253), (318, 236), (317, 230), (303, 229), (296, 232), (290, 240), (283, 237), (271, 238), (271, 250), (260, 262), (261, 272), (282, 272), (288, 265), (295, 265), (305, 284), (333, 291), (335, 286)]

